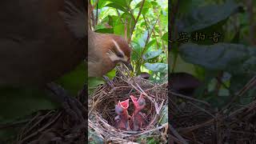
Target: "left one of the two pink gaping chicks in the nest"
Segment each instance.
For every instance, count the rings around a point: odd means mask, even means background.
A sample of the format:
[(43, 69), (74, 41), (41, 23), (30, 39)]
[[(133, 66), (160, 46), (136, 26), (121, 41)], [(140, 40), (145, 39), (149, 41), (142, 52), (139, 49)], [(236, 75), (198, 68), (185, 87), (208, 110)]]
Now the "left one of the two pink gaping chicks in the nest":
[(115, 128), (119, 130), (130, 130), (130, 124), (129, 124), (129, 119), (130, 115), (128, 114), (128, 109), (129, 107), (129, 99), (126, 99), (125, 101), (118, 102), (118, 105), (115, 105), (115, 112), (118, 114), (114, 118), (116, 121)]

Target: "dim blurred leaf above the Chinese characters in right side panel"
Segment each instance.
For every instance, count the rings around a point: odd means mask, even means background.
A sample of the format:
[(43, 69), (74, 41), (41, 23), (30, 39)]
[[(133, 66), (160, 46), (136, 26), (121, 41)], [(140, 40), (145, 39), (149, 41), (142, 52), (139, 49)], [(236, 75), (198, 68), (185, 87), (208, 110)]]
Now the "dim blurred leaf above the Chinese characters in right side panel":
[(230, 17), (231, 14), (238, 12), (238, 8), (238, 4), (232, 1), (228, 1), (221, 6), (213, 5), (198, 7), (182, 18), (182, 24), (178, 24), (178, 31), (190, 33), (204, 29), (208, 26), (213, 26)]

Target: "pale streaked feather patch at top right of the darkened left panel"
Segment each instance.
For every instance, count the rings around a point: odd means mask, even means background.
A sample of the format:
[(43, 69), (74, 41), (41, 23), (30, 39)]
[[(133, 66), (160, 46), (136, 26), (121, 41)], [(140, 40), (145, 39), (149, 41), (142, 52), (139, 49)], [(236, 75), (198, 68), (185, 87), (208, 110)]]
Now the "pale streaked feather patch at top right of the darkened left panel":
[(85, 8), (79, 9), (71, 0), (65, 0), (64, 2), (64, 10), (60, 11), (59, 14), (75, 38), (85, 38), (87, 34)]

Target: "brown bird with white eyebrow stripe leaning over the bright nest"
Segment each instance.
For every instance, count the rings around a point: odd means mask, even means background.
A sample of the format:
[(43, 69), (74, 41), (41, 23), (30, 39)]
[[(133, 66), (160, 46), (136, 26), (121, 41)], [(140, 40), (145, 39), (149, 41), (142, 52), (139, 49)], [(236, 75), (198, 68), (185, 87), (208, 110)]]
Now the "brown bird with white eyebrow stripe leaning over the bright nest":
[[(92, 6), (89, 2), (89, 8)], [(89, 18), (90, 10), (89, 9)], [(90, 20), (88, 21), (90, 22)], [(90, 26), (90, 23), (88, 24)], [(124, 63), (130, 70), (133, 67), (130, 64), (131, 49), (124, 38), (116, 34), (96, 33), (88, 27), (88, 76), (103, 77), (119, 63)]]

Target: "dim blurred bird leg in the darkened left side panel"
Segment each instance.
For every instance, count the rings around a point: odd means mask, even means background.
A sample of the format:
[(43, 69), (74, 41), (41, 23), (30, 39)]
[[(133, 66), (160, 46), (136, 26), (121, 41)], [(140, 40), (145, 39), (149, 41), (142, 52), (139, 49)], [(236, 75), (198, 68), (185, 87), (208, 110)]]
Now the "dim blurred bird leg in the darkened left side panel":
[(47, 90), (50, 90), (50, 92), (53, 94), (54, 100), (62, 103), (62, 107), (64, 110), (66, 110), (66, 113), (70, 115), (74, 122), (79, 124), (85, 122), (83, 114), (86, 112), (86, 108), (82, 106), (81, 102), (79, 102), (76, 98), (71, 97), (69, 94), (67, 94), (66, 90), (54, 82), (50, 82), (46, 84), (46, 86)]

